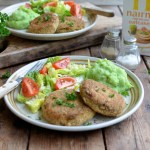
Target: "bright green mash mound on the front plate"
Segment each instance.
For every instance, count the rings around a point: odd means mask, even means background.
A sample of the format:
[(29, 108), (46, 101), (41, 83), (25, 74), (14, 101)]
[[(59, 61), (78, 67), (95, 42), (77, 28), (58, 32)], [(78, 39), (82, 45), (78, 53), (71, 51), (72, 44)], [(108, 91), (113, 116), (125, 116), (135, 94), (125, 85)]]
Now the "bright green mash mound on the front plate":
[(101, 82), (119, 93), (132, 87), (125, 70), (107, 59), (99, 59), (87, 71), (86, 78)]

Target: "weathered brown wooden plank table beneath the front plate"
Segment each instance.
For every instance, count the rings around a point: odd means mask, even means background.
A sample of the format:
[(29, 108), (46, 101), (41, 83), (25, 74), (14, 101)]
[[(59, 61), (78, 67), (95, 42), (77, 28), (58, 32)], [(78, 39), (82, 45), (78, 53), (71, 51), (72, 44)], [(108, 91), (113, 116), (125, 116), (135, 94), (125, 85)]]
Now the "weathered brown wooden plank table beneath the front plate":
[[(5, 3), (6, 2), (6, 3)], [(0, 0), (0, 8), (18, 2)], [(2, 6), (3, 5), (3, 6)], [(122, 14), (122, 7), (111, 6)], [(79, 49), (62, 55), (100, 57), (100, 45)], [(15, 58), (14, 58), (15, 59)], [(0, 62), (3, 63), (3, 62)], [(15, 72), (20, 64), (3, 68)], [(16, 117), (0, 100), (0, 150), (149, 150), (150, 149), (150, 57), (142, 56), (135, 74), (145, 89), (141, 107), (125, 121), (111, 127), (89, 132), (58, 132), (33, 126)], [(6, 80), (0, 79), (0, 85)]]

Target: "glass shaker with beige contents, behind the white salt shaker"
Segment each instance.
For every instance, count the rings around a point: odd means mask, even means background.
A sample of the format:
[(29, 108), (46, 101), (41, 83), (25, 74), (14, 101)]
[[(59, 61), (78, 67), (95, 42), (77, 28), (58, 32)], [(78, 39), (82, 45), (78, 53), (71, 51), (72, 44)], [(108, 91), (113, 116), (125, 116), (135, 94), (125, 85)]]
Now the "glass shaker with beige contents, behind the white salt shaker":
[(104, 38), (101, 45), (101, 57), (109, 60), (115, 60), (120, 49), (120, 31), (117, 29), (110, 30)]

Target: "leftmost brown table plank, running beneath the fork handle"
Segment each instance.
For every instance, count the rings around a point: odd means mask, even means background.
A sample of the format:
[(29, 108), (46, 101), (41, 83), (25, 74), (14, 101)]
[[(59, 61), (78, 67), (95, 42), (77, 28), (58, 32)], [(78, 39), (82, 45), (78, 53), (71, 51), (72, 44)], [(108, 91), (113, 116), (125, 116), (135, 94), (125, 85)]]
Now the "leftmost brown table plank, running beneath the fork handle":
[[(6, 71), (13, 73), (21, 66), (1, 69), (0, 76)], [(6, 79), (0, 78), (0, 86)], [(0, 149), (1, 150), (26, 150), (28, 145), (30, 125), (16, 117), (0, 99)]]

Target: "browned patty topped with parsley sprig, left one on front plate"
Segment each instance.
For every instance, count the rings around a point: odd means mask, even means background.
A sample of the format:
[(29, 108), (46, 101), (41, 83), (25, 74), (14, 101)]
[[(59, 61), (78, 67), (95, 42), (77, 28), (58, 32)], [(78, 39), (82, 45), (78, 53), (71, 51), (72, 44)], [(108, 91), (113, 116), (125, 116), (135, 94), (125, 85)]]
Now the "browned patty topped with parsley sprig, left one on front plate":
[(58, 90), (45, 100), (42, 115), (51, 124), (78, 126), (93, 118), (95, 112), (83, 103), (79, 93)]

